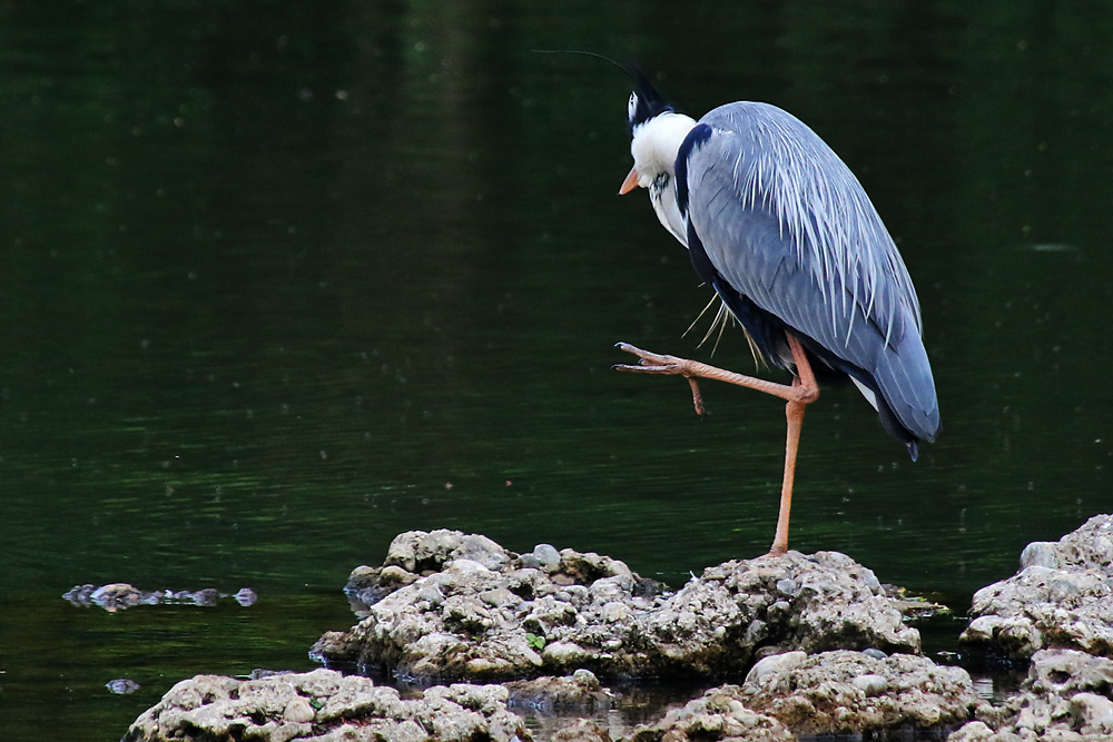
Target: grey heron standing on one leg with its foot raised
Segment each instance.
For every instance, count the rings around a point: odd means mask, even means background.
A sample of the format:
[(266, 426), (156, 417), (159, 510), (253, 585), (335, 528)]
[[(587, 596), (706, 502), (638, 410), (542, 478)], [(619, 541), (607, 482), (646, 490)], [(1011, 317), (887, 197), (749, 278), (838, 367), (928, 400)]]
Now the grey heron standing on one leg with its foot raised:
[(640, 358), (620, 370), (737, 384), (786, 402), (780, 512), (770, 554), (788, 550), (805, 407), (815, 364), (849, 376), (913, 461), (939, 432), (919, 301), (877, 210), (850, 169), (804, 122), (760, 102), (720, 106), (699, 121), (633, 72), (627, 115), (633, 168), (620, 194), (649, 190), (658, 219), (741, 325), (755, 355), (791, 384), (736, 374), (620, 343)]

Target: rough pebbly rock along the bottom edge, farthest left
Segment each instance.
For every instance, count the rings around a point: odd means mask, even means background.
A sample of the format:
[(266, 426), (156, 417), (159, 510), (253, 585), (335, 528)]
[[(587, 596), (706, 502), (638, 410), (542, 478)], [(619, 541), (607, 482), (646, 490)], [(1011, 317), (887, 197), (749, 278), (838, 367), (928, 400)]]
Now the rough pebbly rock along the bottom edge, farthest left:
[(128, 730), (125, 742), (314, 740), (319, 742), (509, 742), (531, 740), (500, 685), (392, 687), (332, 670), (236, 680), (198, 675), (171, 687)]

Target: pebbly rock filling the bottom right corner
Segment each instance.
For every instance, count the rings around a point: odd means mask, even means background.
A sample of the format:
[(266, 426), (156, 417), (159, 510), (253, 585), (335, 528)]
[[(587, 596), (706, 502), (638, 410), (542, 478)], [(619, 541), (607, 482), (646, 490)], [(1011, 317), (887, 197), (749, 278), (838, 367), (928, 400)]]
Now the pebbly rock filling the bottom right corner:
[(1074, 650), (1041, 650), (1032, 655), (1020, 693), (978, 716), (948, 742), (1110, 742), (1113, 660)]

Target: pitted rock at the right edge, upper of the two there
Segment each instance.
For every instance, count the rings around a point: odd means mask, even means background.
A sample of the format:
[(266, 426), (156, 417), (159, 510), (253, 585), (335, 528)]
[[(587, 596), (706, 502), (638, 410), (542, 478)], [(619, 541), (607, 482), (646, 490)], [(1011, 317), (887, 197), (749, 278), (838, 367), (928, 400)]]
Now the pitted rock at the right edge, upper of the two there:
[(1113, 515), (1095, 515), (1058, 542), (1035, 542), (1021, 571), (974, 594), (961, 641), (1024, 660), (1062, 647), (1113, 657)]

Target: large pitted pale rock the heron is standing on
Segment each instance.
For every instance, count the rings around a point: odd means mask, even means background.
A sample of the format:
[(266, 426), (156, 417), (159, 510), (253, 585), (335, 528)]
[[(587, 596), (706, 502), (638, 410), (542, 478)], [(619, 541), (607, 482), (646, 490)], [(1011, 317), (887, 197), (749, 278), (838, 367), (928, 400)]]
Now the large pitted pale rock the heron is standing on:
[(563, 675), (725, 676), (767, 654), (919, 651), (874, 573), (836, 552), (728, 562), (672, 595), (622, 562), (549, 545), (410, 532), (353, 573), (370, 603), (311, 654), (424, 680)]

